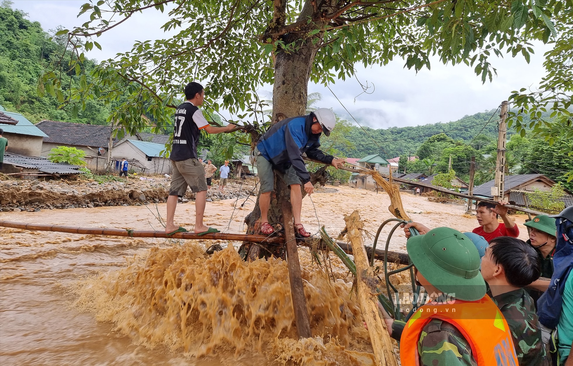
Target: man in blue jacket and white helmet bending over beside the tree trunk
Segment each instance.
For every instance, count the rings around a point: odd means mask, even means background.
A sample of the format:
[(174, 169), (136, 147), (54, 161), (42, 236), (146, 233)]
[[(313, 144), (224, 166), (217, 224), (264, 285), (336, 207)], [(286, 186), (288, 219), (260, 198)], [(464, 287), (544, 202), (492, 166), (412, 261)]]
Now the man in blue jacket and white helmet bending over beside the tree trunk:
[(311, 176), (304, 164), (303, 153), (307, 157), (331, 164), (336, 169), (344, 164), (344, 159), (335, 159), (323, 153), (320, 147), (320, 133), (326, 136), (336, 124), (336, 117), (331, 110), (320, 108), (308, 116), (286, 118), (273, 125), (258, 141), (257, 172), (261, 180), (261, 233), (271, 234), (274, 229), (269, 224), (268, 212), (270, 192), (274, 190), (274, 173), (276, 169), (286, 185), (291, 187), (292, 215), (295, 219), (295, 233), (301, 237), (311, 236), (300, 222), (303, 194), (300, 186), (310, 195), (313, 192)]

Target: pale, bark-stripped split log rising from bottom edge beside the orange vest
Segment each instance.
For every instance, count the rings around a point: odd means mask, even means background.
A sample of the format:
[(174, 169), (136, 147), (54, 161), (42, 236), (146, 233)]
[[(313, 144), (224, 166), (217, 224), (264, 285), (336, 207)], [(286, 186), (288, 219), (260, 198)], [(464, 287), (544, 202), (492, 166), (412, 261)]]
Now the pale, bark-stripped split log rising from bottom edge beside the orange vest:
[(368, 264), (366, 250), (362, 244), (362, 232), (364, 223), (360, 220), (358, 210), (352, 212), (350, 216), (344, 216), (348, 239), (354, 251), (354, 263), (356, 264), (356, 284), (358, 287), (358, 300), (360, 310), (366, 324), (372, 348), (374, 348), (374, 358), (376, 365), (398, 366), (398, 359), (394, 354), (394, 348), (386, 324), (380, 319), (378, 312), (378, 299), (376, 297), (376, 285), (378, 280), (374, 276), (374, 270)]

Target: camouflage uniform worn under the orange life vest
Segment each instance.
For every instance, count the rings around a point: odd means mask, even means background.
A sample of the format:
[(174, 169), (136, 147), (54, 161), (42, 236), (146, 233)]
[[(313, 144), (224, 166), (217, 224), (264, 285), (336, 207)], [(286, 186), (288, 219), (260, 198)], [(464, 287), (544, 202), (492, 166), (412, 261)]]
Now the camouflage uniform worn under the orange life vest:
[[(405, 327), (403, 321), (395, 320), (392, 337), (400, 341)], [(447, 321), (432, 319), (422, 329), (418, 340), (418, 354), (422, 366), (476, 366), (472, 347), (456, 327)]]

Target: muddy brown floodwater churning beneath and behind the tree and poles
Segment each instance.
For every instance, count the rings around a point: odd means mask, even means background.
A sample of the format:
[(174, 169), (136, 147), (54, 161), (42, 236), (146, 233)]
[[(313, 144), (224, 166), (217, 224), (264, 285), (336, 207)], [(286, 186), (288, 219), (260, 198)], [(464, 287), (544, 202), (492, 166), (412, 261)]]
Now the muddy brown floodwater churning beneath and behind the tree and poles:
[[(303, 222), (336, 236), (359, 209), (375, 233), (390, 218), (386, 194), (339, 188), (305, 198)], [(471, 230), (462, 206), (403, 194), (416, 221)], [(207, 225), (244, 232), (252, 202), (207, 202)], [(242, 202), (242, 201), (240, 201)], [(166, 207), (0, 213), (2, 220), (71, 226), (160, 229)], [(232, 217), (231, 217), (232, 216)], [(318, 220), (317, 220), (318, 217)], [(194, 204), (175, 221), (191, 228)], [(523, 224), (524, 217), (516, 217)], [(520, 225), (525, 232), (524, 226)], [(389, 229), (388, 229), (389, 230)], [(527, 232), (521, 233), (522, 237)], [(284, 261), (246, 263), (233, 245), (212, 256), (212, 241), (102, 237), (0, 228), (2, 365), (367, 365), (372, 348), (351, 281), (336, 258), (331, 281), (300, 249), (313, 339), (296, 340)], [(236, 243), (235, 243), (236, 244)], [(403, 233), (392, 249), (405, 247)]]

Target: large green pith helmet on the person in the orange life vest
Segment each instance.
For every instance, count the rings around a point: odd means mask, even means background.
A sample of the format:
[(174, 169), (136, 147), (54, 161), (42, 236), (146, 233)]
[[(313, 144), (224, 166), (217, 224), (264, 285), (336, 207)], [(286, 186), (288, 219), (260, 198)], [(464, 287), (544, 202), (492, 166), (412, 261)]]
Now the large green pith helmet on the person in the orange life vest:
[(416, 269), (439, 291), (466, 301), (484, 297), (480, 254), (458, 230), (431, 229), (425, 235), (410, 237), (406, 249)]

